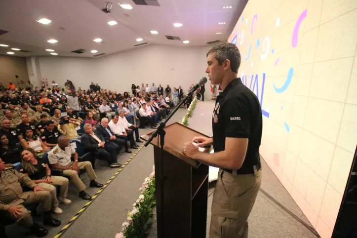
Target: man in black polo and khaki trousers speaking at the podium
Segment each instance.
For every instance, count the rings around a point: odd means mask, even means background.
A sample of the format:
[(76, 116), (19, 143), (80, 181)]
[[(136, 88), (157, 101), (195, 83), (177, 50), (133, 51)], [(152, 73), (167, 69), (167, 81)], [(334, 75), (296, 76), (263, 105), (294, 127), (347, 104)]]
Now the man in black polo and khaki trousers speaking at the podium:
[[(212, 115), (213, 137), (195, 137), (184, 154), (219, 167), (213, 194), (210, 238), (247, 238), (248, 216), (261, 184), (259, 146), (262, 112), (258, 98), (238, 76), (240, 53), (235, 44), (221, 43), (207, 53), (208, 77), (219, 85)], [(198, 147), (213, 144), (214, 153)]]

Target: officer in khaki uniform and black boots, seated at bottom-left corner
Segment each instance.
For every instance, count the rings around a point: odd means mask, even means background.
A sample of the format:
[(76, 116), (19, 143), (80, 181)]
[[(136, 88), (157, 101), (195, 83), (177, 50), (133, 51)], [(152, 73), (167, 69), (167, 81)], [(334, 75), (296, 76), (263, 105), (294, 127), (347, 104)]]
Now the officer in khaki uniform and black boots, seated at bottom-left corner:
[[(33, 191), (23, 192), (22, 187), (26, 186)], [(31, 212), (24, 205), (32, 203), (42, 203), (44, 210), (43, 224), (52, 227), (61, 225), (59, 220), (52, 218), (52, 198), (48, 191), (44, 191), (32, 180), (13, 168), (5, 168), (5, 163), (0, 159), (0, 223), (6, 224), (9, 221), (29, 228), (31, 233), (37, 237), (43, 237), (47, 230), (34, 223)], [(4, 231), (0, 231), (0, 237), (6, 238)]]

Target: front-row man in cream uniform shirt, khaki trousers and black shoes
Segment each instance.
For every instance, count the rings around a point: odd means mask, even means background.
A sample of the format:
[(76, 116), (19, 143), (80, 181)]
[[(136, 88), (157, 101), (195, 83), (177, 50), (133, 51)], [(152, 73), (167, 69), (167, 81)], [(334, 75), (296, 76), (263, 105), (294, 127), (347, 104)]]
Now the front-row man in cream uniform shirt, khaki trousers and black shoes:
[[(63, 170), (63, 174), (70, 177), (71, 182), (76, 185), (79, 191), (79, 198), (90, 200), (92, 197), (84, 191), (85, 185), (79, 178), (79, 169), (85, 169), (90, 180), (90, 187), (102, 188), (103, 184), (95, 181), (97, 175), (93, 170), (92, 164), (89, 161), (78, 161), (78, 154), (70, 145), (70, 141), (67, 137), (60, 136), (57, 142), (58, 145), (48, 152), (49, 163), (53, 168)], [(66, 153), (66, 148), (70, 151), (70, 155)], [(72, 161), (72, 158), (74, 161)]]

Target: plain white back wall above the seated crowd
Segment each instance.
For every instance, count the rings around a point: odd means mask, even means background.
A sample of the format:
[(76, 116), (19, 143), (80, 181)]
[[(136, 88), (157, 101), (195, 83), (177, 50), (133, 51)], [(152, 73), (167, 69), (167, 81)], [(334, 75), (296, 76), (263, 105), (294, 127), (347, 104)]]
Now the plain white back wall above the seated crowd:
[[(148, 45), (101, 58), (39, 57), (42, 78), (63, 85), (67, 79), (76, 87), (89, 88), (91, 81), (102, 88), (129, 91), (131, 84), (159, 83), (182, 86), (206, 76), (206, 52), (212, 46), (175, 47)], [(209, 96), (209, 83), (206, 84)]]

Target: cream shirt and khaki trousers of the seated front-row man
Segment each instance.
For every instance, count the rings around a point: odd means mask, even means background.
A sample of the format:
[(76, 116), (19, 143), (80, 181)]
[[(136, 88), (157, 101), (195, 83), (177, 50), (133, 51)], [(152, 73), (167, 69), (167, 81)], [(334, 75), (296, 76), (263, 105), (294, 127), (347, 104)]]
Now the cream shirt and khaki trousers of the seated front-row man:
[[(56, 164), (66, 167), (71, 167), (73, 161), (71, 157), (76, 153), (73, 147), (70, 147), (71, 153), (66, 153), (58, 145), (56, 145), (50, 152), (48, 152), (48, 161), (50, 164)], [(78, 162), (79, 169), (85, 169), (90, 181), (95, 180), (97, 175), (95, 174), (92, 164), (89, 161)], [(63, 170), (63, 174), (70, 177), (72, 183), (74, 183), (78, 189), (78, 192), (83, 191), (86, 187), (82, 180), (79, 178), (79, 174), (76, 170), (66, 169)]]

